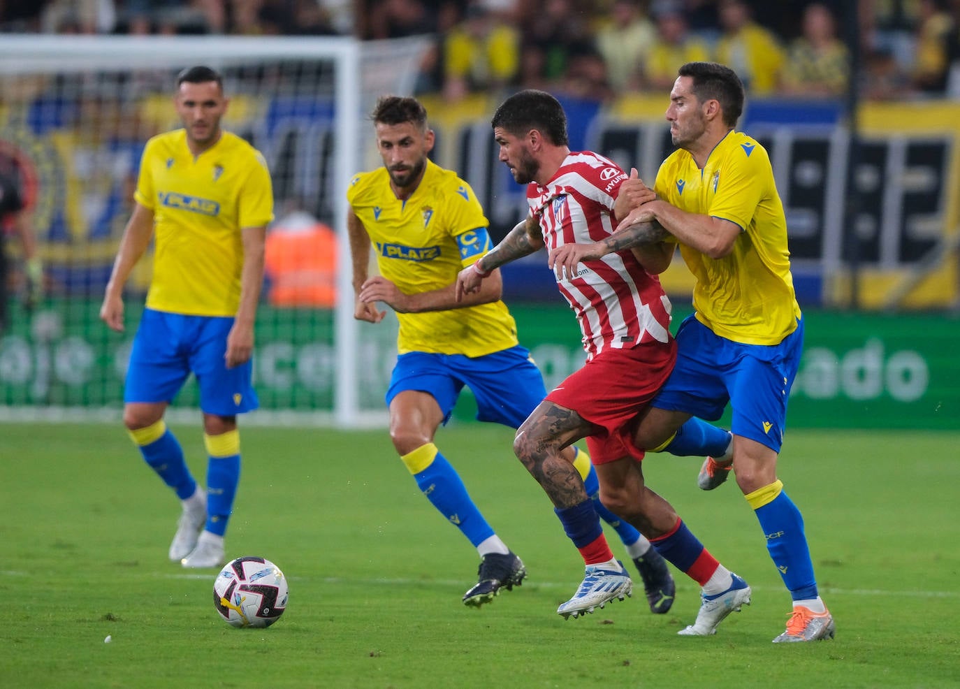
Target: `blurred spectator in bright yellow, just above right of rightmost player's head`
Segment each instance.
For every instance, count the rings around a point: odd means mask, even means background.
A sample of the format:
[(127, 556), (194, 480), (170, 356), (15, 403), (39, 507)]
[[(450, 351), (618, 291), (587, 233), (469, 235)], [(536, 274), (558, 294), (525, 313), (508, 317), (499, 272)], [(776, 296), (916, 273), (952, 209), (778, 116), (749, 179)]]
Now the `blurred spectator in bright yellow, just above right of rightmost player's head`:
[(716, 58), (743, 81), (750, 95), (769, 95), (780, 85), (783, 49), (773, 33), (757, 24), (743, 0), (720, 0)]

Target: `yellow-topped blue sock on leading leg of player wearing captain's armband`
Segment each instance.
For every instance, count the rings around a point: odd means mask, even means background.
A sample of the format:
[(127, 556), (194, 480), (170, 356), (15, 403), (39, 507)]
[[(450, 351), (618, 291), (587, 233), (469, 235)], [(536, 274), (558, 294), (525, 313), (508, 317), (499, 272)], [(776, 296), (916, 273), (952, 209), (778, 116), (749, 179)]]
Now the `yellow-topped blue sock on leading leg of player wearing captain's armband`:
[(477, 547), (493, 529), (470, 499), (467, 487), (453, 466), (432, 442), (400, 457), (413, 474), (427, 500)]

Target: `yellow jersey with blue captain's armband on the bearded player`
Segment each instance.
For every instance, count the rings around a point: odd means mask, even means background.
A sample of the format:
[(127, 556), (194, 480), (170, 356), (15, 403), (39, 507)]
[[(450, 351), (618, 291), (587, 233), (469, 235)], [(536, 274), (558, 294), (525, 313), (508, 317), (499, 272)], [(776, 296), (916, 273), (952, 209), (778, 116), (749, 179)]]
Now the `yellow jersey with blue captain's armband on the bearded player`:
[[(354, 176), (347, 199), (370, 235), (380, 274), (405, 294), (452, 284), (492, 248), (489, 222), (469, 184), (431, 160), (405, 201), (396, 198), (384, 167)], [(516, 322), (499, 300), (396, 319), (400, 354), (478, 357), (517, 345)]]

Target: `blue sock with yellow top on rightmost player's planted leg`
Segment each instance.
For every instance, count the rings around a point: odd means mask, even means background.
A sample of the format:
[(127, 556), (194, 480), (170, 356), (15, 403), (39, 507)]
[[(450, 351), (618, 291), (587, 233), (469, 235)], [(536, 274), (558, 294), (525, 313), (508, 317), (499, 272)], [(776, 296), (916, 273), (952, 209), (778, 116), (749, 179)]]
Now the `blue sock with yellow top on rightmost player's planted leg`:
[(767, 540), (767, 552), (794, 601), (816, 599), (817, 581), (804, 534), (804, 517), (775, 481), (744, 496)]

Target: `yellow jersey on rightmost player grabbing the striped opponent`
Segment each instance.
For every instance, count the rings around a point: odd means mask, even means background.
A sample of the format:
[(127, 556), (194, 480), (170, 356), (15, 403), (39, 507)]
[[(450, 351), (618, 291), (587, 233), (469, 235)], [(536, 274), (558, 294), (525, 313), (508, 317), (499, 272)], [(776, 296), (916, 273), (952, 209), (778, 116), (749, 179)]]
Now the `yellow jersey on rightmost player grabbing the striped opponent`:
[(741, 229), (723, 258), (680, 244), (696, 277), (697, 320), (733, 342), (780, 344), (797, 328), (801, 312), (790, 273), (783, 203), (766, 150), (747, 134), (731, 131), (702, 170), (687, 151), (667, 157), (655, 190), (681, 210), (722, 218)]

